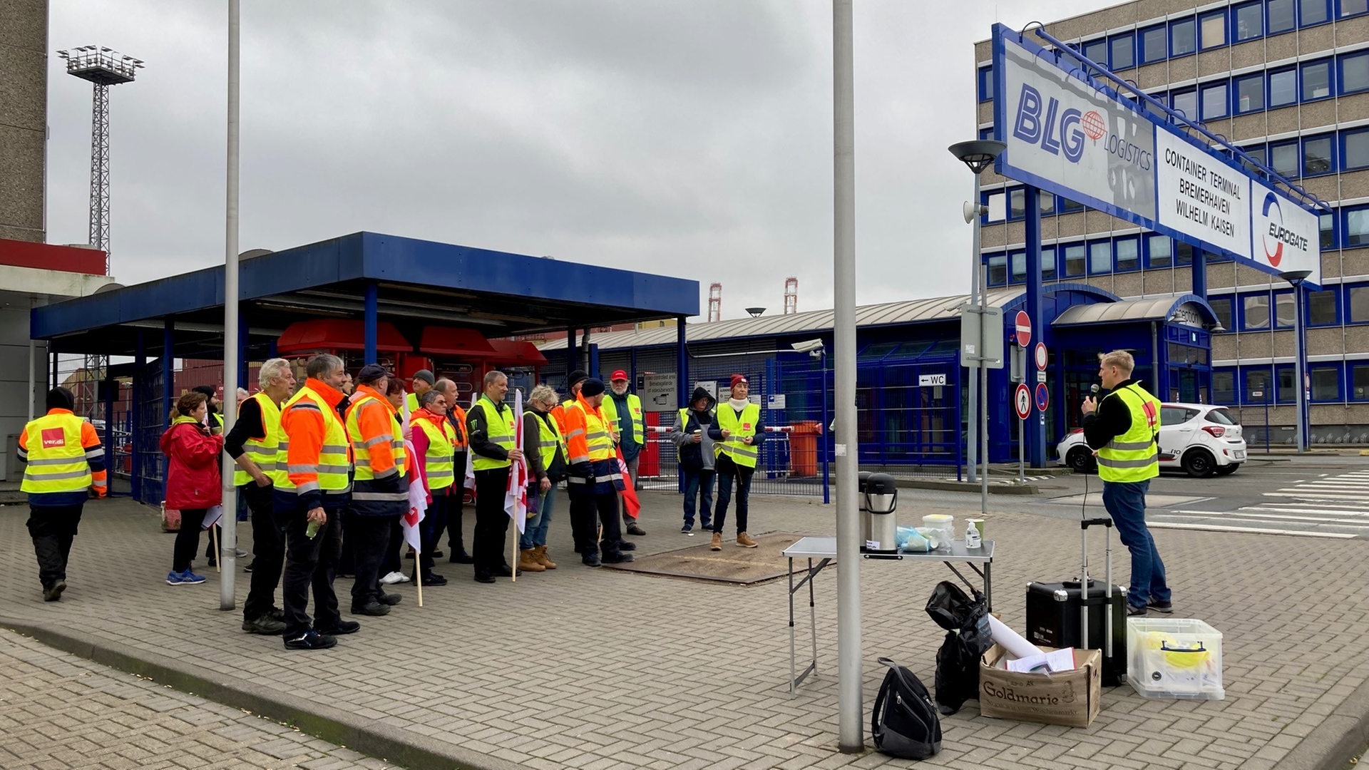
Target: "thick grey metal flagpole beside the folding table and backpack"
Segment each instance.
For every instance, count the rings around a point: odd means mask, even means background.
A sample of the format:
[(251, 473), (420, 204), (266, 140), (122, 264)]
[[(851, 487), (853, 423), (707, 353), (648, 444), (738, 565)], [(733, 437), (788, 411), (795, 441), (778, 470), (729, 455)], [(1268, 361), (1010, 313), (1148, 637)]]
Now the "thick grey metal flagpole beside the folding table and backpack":
[(838, 748), (865, 748), (861, 707), (860, 519), (856, 506), (856, 84), (852, 0), (832, 0), (832, 348), (836, 406)]

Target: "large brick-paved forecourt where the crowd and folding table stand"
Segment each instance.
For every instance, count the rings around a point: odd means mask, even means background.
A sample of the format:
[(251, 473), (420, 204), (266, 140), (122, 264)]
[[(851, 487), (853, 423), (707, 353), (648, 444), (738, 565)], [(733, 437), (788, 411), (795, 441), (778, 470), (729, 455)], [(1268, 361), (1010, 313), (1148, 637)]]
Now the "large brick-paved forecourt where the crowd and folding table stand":
[[(701, 543), (678, 532), (678, 496), (648, 492), (643, 501), (649, 534), (634, 538), (639, 552)], [(582, 567), (564, 497), (559, 503), (552, 556), (561, 569), (486, 586), (471, 581), (468, 566), (444, 563), (452, 582), (426, 589), (426, 607), (415, 606), (412, 588), (397, 588), (405, 599), (389, 617), (360, 618), (361, 633), (312, 654), (241, 633), (240, 615), (218, 610), (212, 570), (201, 586), (164, 585), (172, 538), (157, 532), (155, 511), (127, 500), (86, 507), (70, 589), (45, 604), (23, 530), (27, 511), (0, 508), (0, 617), (204, 671), (227, 686), (326, 703), (405, 740), (475, 752), (490, 767), (910, 766), (836, 751), (835, 571), (816, 584), (819, 675), (790, 699), (783, 581), (739, 588)], [(920, 506), (916, 490), (898, 510), (905, 521), (938, 512)], [(750, 529), (831, 533), (834, 512), (754, 499)], [(1006, 512), (990, 514), (987, 527), (998, 543), (995, 611), (1021, 628), (1021, 586), (1077, 570), (1077, 525)], [(1144, 700), (1114, 688), (1087, 729), (988, 719), (971, 701), (943, 721), (942, 754), (919, 766), (1258, 770), (1287, 766), (1295, 748), (1295, 756), (1314, 756), (1317, 747), (1303, 738), (1340, 719), (1338, 710), (1369, 677), (1369, 543), (1194, 530), (1154, 537), (1176, 617), (1202, 618), (1225, 634), (1225, 700)], [(1113, 545), (1116, 577), (1125, 582), (1129, 559)], [(860, 571), (868, 714), (883, 675), (878, 656), (934, 681), (942, 632), (923, 606), (950, 573), (897, 562), (862, 562)], [(349, 581), (338, 586), (345, 595)], [(1309, 744), (1327, 743), (1324, 730)]]

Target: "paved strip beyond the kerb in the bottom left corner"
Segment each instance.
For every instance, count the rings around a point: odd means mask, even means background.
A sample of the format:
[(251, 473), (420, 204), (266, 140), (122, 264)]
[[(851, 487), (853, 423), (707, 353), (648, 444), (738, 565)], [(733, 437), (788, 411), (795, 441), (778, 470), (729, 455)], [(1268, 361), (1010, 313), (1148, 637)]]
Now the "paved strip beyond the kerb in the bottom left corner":
[(294, 728), (0, 632), (0, 767), (382, 770)]

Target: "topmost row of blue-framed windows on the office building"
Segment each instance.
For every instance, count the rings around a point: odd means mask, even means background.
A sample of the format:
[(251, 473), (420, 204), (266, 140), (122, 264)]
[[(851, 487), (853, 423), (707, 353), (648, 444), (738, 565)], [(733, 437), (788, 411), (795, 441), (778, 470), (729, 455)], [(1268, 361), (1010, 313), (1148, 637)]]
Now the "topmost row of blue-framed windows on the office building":
[[(1369, 14), (1369, 0), (1251, 0), (1143, 26), (1136, 32), (1097, 37), (1071, 48), (1117, 73), (1362, 14)], [(986, 64), (979, 67), (979, 100), (990, 101), (993, 97), (993, 66)]]

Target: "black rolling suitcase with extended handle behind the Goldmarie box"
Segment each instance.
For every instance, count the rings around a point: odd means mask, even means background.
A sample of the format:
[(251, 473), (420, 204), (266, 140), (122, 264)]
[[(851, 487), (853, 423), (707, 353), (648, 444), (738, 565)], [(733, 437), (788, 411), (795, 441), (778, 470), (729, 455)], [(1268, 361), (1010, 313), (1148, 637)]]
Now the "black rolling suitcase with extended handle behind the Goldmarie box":
[[(1092, 526), (1106, 527), (1101, 584), (1088, 577), (1088, 529)], [(1112, 582), (1112, 526), (1110, 518), (1079, 522), (1083, 541), (1079, 580), (1027, 584), (1027, 638), (1045, 647), (1101, 649), (1102, 684), (1108, 686), (1127, 681), (1127, 588)]]

